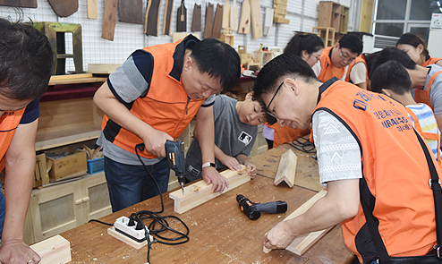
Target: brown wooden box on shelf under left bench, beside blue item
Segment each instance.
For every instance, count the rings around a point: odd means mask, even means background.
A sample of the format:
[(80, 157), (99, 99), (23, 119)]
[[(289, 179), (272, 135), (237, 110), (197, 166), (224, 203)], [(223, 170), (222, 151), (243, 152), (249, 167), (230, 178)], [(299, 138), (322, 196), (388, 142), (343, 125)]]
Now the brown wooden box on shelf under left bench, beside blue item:
[(85, 175), (88, 171), (86, 152), (75, 153), (64, 158), (47, 158), (47, 166), (52, 166), (49, 177), (55, 182), (66, 177)]

